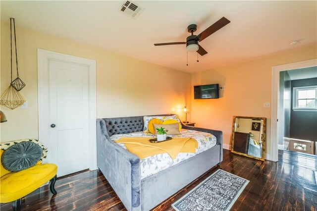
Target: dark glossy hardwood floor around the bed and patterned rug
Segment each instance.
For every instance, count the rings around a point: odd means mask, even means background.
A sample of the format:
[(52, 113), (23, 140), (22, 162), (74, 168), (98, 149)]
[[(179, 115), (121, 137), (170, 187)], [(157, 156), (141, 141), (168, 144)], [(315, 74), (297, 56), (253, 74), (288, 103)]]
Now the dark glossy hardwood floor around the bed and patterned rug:
[[(257, 161), (224, 150), (221, 169), (250, 180), (232, 211), (317, 211), (317, 157), (279, 151), (279, 161)], [(172, 211), (171, 204), (217, 170), (202, 177), (162, 202), (155, 211)], [(57, 195), (44, 186), (22, 201), (24, 211), (126, 210), (100, 171), (84, 171), (58, 178)], [(11, 210), (11, 203), (1, 204)]]

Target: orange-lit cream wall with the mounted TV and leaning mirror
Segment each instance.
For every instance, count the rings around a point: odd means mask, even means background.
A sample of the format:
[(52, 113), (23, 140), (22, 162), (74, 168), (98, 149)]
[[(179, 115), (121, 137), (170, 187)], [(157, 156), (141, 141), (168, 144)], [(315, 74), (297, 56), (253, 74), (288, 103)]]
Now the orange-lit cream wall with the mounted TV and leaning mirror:
[(192, 86), (218, 83), (219, 86), (224, 85), (225, 89), (219, 92), (219, 99), (194, 100), (192, 97), (191, 120), (196, 122), (196, 126), (223, 131), (223, 142), (230, 145), (233, 116), (266, 117), (265, 153), (269, 154), (271, 109), (264, 108), (263, 103), (271, 103), (272, 67), (316, 57), (315, 44), (232, 66), (193, 73)]

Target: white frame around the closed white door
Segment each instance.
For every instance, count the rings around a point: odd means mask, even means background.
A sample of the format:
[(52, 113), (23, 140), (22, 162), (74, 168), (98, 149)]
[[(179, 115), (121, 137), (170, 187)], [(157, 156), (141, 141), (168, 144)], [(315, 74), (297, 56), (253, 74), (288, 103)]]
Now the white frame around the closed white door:
[[(38, 115), (39, 115), (39, 140), (47, 147), (50, 147), (51, 141), (49, 125), (51, 122), (49, 113), (49, 60), (76, 63), (88, 66), (89, 77), (89, 169), (97, 169), (97, 137), (96, 137), (96, 61), (55, 53), (38, 49)], [(45, 137), (45, 138), (44, 138)], [(44, 160), (44, 162), (46, 162)], [(47, 162), (50, 162), (50, 148)]]

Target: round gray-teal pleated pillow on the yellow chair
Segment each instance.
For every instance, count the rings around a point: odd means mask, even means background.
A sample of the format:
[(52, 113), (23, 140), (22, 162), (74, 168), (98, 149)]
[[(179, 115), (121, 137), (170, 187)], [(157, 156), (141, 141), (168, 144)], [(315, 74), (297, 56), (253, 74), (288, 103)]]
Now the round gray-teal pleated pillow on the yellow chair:
[(35, 165), (42, 157), (43, 149), (30, 141), (12, 145), (2, 154), (1, 162), (9, 171), (21, 171)]

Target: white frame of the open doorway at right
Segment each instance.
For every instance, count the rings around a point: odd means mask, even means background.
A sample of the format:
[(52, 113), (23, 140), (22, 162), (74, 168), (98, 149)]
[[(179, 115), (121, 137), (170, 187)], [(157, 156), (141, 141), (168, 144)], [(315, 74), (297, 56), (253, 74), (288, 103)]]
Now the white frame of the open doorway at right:
[(292, 69), (317, 66), (317, 59), (300, 61), (290, 64), (283, 64), (272, 67), (272, 108), (271, 108), (271, 146), (270, 160), (278, 161), (278, 124), (277, 119), (279, 110), (279, 72)]

